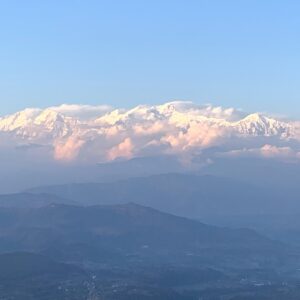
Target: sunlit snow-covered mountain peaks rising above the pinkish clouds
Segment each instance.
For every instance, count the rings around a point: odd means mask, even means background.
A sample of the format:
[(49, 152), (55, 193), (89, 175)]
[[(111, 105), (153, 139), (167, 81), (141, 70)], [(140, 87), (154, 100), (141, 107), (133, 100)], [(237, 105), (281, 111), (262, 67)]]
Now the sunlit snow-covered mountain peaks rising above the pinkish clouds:
[[(80, 107), (77, 108), (80, 110)], [(84, 109), (84, 108), (83, 108)], [(11, 132), (28, 140), (55, 139), (80, 134), (99, 135), (104, 128), (119, 125), (124, 128), (133, 125), (155, 124), (165, 121), (176, 127), (186, 128), (193, 123), (230, 128), (244, 135), (289, 136), (291, 124), (262, 114), (242, 115), (233, 109), (197, 106), (190, 102), (174, 101), (163, 105), (139, 105), (133, 109), (117, 109), (99, 118), (82, 120), (68, 116), (67, 112), (55, 107), (47, 109), (25, 109), (0, 119), (0, 131)], [(101, 128), (102, 127), (102, 128)], [(146, 129), (146, 128), (145, 128)]]

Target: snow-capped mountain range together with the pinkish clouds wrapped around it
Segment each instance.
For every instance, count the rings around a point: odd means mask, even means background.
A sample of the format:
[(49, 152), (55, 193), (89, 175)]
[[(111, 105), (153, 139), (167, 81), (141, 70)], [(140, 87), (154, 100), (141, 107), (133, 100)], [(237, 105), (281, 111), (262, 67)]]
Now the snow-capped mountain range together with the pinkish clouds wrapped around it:
[(188, 165), (207, 149), (210, 159), (224, 155), (298, 159), (299, 128), (295, 121), (190, 102), (129, 110), (62, 105), (2, 117), (0, 146), (83, 162), (175, 155)]

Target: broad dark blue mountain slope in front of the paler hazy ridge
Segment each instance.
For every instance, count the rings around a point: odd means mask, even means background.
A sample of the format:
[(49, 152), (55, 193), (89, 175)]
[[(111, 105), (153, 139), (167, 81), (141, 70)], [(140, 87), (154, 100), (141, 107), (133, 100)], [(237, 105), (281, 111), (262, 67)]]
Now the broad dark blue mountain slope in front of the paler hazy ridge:
[[(4, 214), (5, 209), (0, 209)], [(12, 211), (10, 211), (12, 213)], [(61, 204), (16, 212), (1, 227), (1, 251), (33, 251), (63, 261), (194, 264), (234, 268), (278, 263), (285, 247), (247, 229), (226, 229), (136, 204), (79, 207)]]

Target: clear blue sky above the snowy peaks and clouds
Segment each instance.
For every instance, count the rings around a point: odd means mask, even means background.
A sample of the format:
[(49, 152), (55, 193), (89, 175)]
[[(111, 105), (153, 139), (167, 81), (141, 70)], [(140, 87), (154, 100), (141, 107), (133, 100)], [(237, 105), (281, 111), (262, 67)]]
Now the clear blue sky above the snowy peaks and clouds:
[(0, 0), (0, 114), (174, 99), (300, 117), (298, 0)]

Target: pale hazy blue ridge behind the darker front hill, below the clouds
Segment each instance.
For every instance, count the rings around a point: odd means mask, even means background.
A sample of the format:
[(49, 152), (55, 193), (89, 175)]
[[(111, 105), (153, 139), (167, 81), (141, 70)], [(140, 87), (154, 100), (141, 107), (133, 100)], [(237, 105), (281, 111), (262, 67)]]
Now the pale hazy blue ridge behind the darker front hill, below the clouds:
[(193, 218), (300, 212), (295, 195), (285, 190), (215, 176), (164, 174), (110, 183), (39, 187), (29, 192), (52, 194), (81, 205), (133, 201)]

